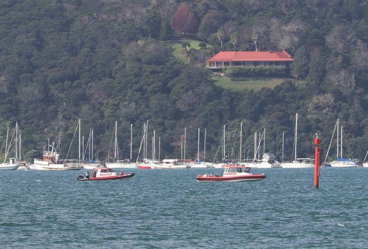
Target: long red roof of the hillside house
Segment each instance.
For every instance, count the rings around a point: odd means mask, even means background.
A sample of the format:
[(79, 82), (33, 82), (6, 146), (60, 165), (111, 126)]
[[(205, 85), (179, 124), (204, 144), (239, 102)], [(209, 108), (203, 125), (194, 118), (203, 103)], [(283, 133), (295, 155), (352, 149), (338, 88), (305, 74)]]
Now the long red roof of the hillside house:
[(293, 61), (291, 55), (282, 50), (276, 51), (221, 51), (208, 59), (215, 61)]

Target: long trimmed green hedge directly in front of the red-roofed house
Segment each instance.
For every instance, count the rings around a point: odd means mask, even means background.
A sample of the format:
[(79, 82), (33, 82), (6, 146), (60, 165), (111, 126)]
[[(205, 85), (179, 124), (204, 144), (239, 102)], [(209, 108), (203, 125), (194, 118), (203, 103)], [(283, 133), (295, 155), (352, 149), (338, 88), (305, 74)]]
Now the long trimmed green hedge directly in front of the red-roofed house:
[(286, 66), (230, 66), (222, 69), (227, 77), (285, 76)]

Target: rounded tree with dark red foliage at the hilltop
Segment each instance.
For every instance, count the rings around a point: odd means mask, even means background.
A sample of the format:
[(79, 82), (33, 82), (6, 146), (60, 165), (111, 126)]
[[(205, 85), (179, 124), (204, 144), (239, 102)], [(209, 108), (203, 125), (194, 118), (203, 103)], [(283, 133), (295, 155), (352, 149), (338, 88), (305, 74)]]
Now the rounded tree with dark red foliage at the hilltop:
[(198, 19), (190, 9), (187, 3), (179, 5), (171, 19), (173, 30), (185, 33), (195, 33), (197, 31)]

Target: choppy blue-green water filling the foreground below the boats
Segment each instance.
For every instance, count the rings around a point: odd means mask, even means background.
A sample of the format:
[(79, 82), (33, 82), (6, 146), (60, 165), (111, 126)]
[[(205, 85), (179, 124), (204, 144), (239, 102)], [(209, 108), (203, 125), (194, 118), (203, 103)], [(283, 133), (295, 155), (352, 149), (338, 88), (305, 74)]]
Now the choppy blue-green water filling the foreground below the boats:
[(368, 169), (254, 169), (260, 182), (196, 182), (221, 169), (0, 171), (1, 248), (366, 248)]

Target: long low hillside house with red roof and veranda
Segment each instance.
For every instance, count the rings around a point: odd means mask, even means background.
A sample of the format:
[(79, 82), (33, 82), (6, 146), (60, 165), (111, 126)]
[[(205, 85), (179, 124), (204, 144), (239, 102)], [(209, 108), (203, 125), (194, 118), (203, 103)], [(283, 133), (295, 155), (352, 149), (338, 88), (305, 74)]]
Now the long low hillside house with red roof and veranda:
[(227, 66), (288, 66), (293, 61), (291, 55), (277, 51), (220, 51), (207, 60), (208, 68)]

